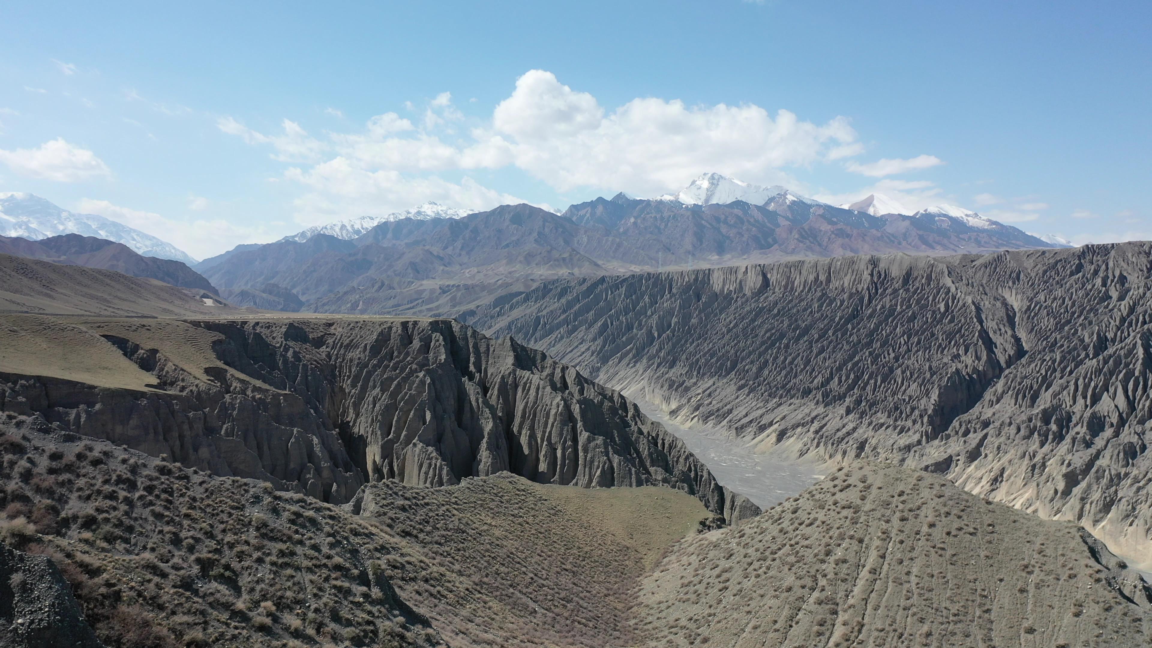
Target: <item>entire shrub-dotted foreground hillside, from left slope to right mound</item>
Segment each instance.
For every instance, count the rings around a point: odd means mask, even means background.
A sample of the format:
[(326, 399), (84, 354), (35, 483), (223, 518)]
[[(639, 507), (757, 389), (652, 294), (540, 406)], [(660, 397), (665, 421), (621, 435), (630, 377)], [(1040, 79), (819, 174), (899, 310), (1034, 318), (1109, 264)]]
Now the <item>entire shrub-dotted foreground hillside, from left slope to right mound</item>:
[(16, 646), (1122, 647), (1152, 628), (1147, 585), (1091, 536), (894, 467), (698, 533), (711, 514), (673, 489), (505, 473), (340, 507), (37, 417), (5, 415), (0, 447), (0, 570), (59, 602), (18, 598), (18, 624), (0, 608)]

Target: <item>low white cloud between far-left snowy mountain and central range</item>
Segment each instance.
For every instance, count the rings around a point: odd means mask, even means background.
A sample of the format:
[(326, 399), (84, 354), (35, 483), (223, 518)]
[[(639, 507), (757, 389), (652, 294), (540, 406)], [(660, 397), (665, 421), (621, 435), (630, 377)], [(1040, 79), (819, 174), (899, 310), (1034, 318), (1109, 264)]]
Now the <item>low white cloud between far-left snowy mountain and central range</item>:
[(207, 258), (240, 243), (260, 243), (282, 236), (266, 225), (237, 225), (222, 218), (176, 220), (159, 213), (83, 198), (76, 211), (96, 213), (162, 239), (196, 258)]

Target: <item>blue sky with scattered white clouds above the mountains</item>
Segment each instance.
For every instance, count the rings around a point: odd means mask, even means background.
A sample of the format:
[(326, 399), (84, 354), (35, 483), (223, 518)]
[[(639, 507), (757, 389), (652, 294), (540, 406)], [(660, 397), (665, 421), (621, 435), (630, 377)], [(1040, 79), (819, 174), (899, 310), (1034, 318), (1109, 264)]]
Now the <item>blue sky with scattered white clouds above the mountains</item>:
[(1146, 1), (94, 5), (6, 3), (0, 190), (196, 257), (708, 171), (1152, 239)]

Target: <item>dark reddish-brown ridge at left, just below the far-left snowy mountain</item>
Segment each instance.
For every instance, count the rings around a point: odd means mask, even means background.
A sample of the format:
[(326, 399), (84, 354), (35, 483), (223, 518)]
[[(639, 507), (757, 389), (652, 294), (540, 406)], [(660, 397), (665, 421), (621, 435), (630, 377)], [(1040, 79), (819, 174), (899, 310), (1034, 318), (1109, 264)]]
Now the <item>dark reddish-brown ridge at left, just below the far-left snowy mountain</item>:
[(219, 295), (207, 279), (179, 261), (142, 256), (128, 246), (93, 236), (65, 234), (39, 241), (0, 236), (0, 254), (114, 270), (131, 277), (157, 279), (173, 286)]

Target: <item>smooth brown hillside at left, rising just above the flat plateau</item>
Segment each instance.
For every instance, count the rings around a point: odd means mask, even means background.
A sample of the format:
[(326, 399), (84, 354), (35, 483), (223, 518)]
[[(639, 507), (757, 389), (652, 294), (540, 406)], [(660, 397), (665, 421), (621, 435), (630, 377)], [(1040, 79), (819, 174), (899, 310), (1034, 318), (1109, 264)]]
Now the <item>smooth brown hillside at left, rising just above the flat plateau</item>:
[(243, 311), (206, 291), (112, 270), (0, 254), (0, 312), (214, 317)]

